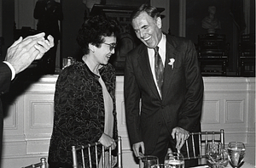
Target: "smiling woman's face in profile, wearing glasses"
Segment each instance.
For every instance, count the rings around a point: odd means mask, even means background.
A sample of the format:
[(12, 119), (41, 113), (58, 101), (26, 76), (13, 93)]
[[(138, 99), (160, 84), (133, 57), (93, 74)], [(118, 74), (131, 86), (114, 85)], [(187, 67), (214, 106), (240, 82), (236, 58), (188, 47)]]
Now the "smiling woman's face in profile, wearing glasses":
[(98, 64), (108, 64), (108, 60), (114, 53), (114, 48), (116, 46), (115, 36), (106, 36), (103, 38), (105, 39), (105, 42), (102, 43), (101, 47), (96, 48), (95, 50), (95, 59)]

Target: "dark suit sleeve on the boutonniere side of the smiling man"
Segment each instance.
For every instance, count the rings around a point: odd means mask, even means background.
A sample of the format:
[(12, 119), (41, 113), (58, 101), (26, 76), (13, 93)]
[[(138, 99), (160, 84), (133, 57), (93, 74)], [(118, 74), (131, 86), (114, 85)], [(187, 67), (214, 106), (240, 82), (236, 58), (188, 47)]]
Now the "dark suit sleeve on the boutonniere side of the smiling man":
[(185, 48), (184, 71), (186, 81), (185, 103), (177, 126), (193, 132), (200, 124), (204, 86), (194, 44), (189, 41)]

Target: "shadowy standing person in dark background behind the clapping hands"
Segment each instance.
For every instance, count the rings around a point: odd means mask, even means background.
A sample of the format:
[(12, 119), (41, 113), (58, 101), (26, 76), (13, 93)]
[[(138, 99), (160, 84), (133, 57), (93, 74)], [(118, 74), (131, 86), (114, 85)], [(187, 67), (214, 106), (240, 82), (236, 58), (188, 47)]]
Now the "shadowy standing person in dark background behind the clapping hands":
[(38, 0), (34, 9), (34, 18), (38, 20), (37, 30), (45, 32), (46, 36), (55, 38), (55, 46), (44, 54), (39, 62), (39, 68), (43, 74), (55, 74), (55, 60), (58, 41), (61, 39), (59, 20), (63, 19), (61, 3), (55, 0)]

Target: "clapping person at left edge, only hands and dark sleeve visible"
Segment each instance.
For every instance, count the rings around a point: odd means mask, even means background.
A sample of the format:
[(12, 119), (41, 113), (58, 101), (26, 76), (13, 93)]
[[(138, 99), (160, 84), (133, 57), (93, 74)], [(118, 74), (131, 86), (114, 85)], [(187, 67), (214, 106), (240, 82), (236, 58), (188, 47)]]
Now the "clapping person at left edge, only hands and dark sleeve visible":
[[(54, 46), (54, 38), (48, 36), (48, 40), (45, 40), (44, 35), (45, 33), (39, 33), (35, 36), (27, 36), (25, 39), (22, 39), (20, 36), (20, 38), (8, 48), (5, 61), (0, 63), (0, 96), (9, 91), (10, 83), (15, 78), (15, 74), (25, 70), (32, 64), (33, 60), (41, 59), (44, 53)], [(2, 141), (3, 107), (0, 101), (0, 160)]]

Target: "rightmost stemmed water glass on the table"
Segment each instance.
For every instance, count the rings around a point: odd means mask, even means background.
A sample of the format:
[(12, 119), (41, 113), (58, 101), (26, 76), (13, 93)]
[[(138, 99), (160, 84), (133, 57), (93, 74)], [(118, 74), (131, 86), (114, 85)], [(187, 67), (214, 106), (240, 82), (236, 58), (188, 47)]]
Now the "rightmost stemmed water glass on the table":
[(230, 142), (228, 145), (228, 154), (229, 154), (229, 160), (230, 165), (232, 167), (240, 167), (244, 155), (245, 155), (246, 148), (243, 143), (241, 142)]

